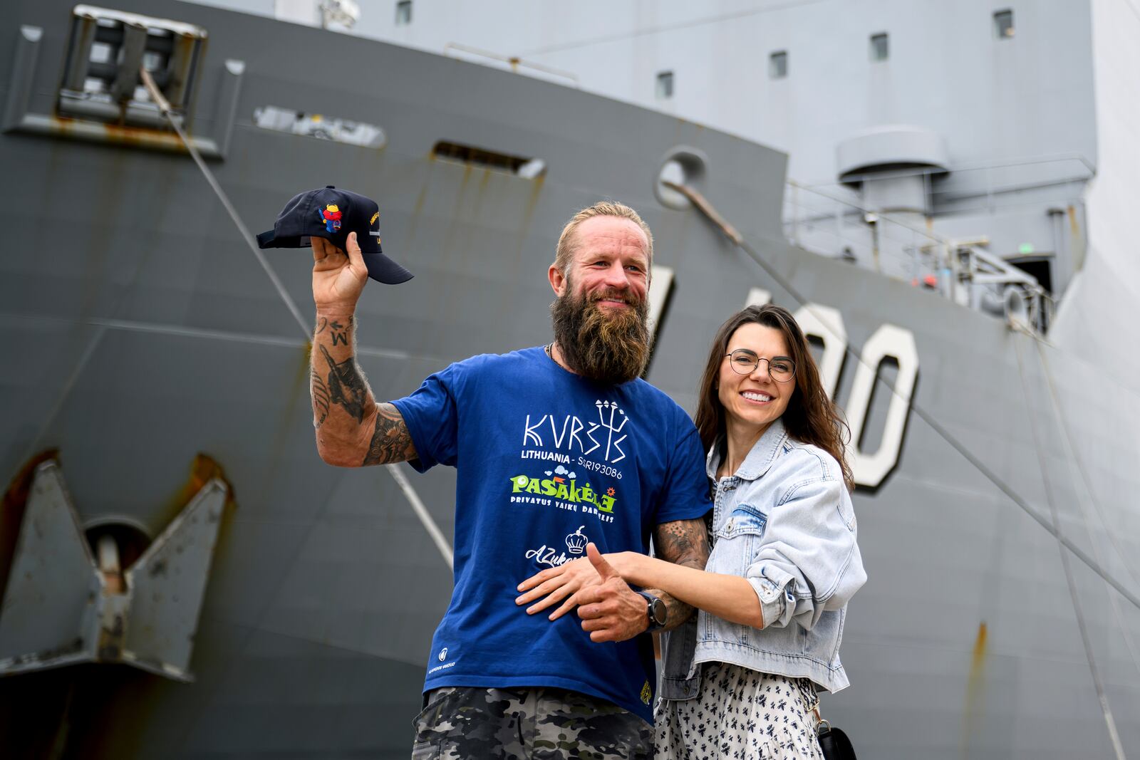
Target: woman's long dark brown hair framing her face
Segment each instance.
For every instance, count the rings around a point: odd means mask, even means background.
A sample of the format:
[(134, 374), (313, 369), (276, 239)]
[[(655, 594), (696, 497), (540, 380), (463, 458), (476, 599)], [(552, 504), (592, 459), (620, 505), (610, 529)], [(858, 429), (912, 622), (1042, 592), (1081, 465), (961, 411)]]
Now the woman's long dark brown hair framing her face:
[(796, 362), (797, 392), (792, 393), (788, 409), (781, 417), (788, 434), (797, 441), (817, 446), (834, 457), (842, 469), (847, 490), (854, 490), (855, 481), (846, 457), (846, 443), (850, 439), (850, 430), (839, 407), (823, 390), (820, 370), (815, 366), (804, 332), (788, 310), (781, 307), (768, 304), (738, 311), (720, 326), (716, 337), (712, 338), (709, 361), (705, 367), (697, 397), (697, 431), (701, 435), (705, 450), (708, 451), (716, 444), (722, 447), (720, 456), (725, 453), (724, 404), (717, 395), (716, 381), (720, 374), (720, 362), (728, 352), (728, 341), (742, 325), (751, 322), (779, 330), (788, 344), (792, 361)]

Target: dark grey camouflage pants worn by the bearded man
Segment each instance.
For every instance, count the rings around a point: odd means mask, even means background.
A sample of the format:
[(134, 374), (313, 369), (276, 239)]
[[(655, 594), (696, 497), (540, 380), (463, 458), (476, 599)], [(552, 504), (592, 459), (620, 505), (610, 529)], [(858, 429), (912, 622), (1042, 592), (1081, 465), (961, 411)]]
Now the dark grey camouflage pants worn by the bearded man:
[(611, 760), (653, 757), (653, 727), (577, 692), (448, 686), (427, 694), (412, 760)]

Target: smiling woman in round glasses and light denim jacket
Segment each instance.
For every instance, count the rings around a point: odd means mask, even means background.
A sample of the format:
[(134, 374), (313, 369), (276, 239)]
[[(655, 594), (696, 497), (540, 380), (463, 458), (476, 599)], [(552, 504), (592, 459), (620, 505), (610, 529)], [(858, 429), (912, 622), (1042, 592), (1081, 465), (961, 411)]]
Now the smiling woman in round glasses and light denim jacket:
[(699, 399), (715, 483), (706, 570), (613, 557), (630, 583), (699, 611), (662, 644), (658, 757), (703, 757), (700, 736), (711, 733), (722, 753), (821, 758), (816, 688), (847, 686), (844, 618), (866, 580), (846, 426), (803, 330), (780, 307), (749, 307), (722, 325)]

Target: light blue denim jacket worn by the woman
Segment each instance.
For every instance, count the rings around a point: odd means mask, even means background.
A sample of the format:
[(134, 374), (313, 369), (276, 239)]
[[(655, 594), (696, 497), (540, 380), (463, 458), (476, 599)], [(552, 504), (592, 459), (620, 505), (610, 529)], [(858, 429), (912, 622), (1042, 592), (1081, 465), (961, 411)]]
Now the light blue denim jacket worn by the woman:
[[(706, 460), (710, 479), (719, 464), (714, 447)], [(774, 422), (740, 469), (717, 481), (706, 565), (748, 579), (764, 629), (698, 611), (662, 637), (661, 698), (697, 696), (702, 662), (809, 678), (829, 692), (845, 688), (839, 641), (847, 600), (866, 581), (855, 534), (839, 464)]]

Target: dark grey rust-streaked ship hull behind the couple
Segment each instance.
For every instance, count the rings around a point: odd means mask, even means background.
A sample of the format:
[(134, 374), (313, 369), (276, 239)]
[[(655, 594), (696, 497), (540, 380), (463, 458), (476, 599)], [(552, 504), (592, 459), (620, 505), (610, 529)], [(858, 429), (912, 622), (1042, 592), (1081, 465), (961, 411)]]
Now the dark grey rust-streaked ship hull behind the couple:
[[(852, 687), (824, 697), (825, 716), (865, 757), (1108, 758), (1107, 704), (1123, 745), (1140, 745), (1140, 610), (1042, 524), (1140, 591), (1134, 385), (999, 319), (789, 246), (785, 158), (774, 150), (394, 46), (178, 2), (121, 8), (209, 30), (195, 133), (225, 126), (223, 63), (244, 62), (226, 155), (211, 169), (254, 231), (303, 188), (380, 202), (384, 250), (416, 277), (372, 284), (358, 311), (377, 398), (449, 361), (545, 343), (556, 235), (609, 196), (642, 211), (656, 265), (673, 271), (648, 378), (692, 409), (707, 342), (752, 288), (801, 305), (694, 210), (654, 197), (663, 156), (701, 153), (700, 190), (798, 293), (840, 312), (848, 345), (885, 325), (912, 335), (913, 404), (1041, 517), (907, 411), (887, 474), (855, 493), (870, 580), (845, 631)], [(38, 27), (27, 108), (54, 112), (70, 15), (54, 1), (9, 10), (0, 99), (11, 99), (18, 27)], [(264, 106), (377, 124), (386, 144), (267, 130), (253, 123)], [(537, 157), (546, 172), (445, 161), (432, 153), (440, 140)], [(83, 521), (115, 516), (150, 537), (185, 504), (199, 453), (225, 471), (233, 500), (194, 683), (107, 664), (2, 678), (0, 745), (11, 757), (407, 757), (450, 570), (388, 471), (318, 459), (308, 344), (189, 157), (106, 142), (0, 136), (0, 473), (16, 482), (58, 451)], [(309, 317), (308, 252), (270, 256)], [(856, 370), (853, 358), (841, 367), (841, 402)], [(894, 382), (902, 369), (881, 371)], [(880, 448), (889, 403), (883, 389), (868, 397), (864, 451)], [(413, 484), (450, 536), (454, 474)], [(0, 569), (15, 551), (18, 496), (5, 502)]]

